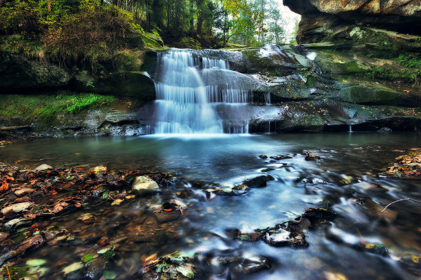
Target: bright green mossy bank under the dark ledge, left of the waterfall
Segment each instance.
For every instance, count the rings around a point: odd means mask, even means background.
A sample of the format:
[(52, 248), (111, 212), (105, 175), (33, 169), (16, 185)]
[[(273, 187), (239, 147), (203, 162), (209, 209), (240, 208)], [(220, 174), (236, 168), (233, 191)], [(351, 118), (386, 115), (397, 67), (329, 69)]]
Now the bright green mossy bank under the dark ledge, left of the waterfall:
[(114, 96), (99, 94), (2, 95), (0, 116), (25, 121), (53, 120), (58, 114), (74, 114), (114, 102)]

